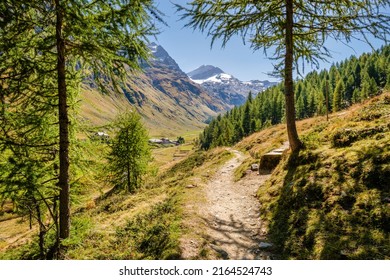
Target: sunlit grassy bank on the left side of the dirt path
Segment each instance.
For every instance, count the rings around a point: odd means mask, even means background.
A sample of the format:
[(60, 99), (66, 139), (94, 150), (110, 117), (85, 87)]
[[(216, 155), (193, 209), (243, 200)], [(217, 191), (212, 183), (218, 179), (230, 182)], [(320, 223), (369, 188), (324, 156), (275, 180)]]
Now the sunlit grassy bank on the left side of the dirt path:
[[(178, 259), (179, 238), (189, 234), (183, 226), (184, 205), (201, 183), (229, 153), (192, 152), (134, 194), (114, 193), (76, 214), (70, 259)], [(188, 219), (186, 217), (185, 219)], [(80, 221), (78, 223), (77, 221)], [(78, 226), (79, 225), (79, 226)]]

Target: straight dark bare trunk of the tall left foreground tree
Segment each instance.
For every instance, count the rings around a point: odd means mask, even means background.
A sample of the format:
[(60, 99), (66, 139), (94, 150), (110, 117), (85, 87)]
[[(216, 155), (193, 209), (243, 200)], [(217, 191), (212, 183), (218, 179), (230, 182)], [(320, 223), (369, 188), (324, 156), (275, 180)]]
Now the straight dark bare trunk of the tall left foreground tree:
[(56, 4), (56, 42), (57, 42), (57, 75), (58, 75), (58, 117), (60, 133), (60, 171), (58, 185), (60, 188), (59, 199), (59, 223), (60, 240), (69, 237), (70, 228), (70, 208), (69, 208), (69, 119), (67, 92), (65, 80), (65, 41), (62, 36), (63, 9), (60, 0), (55, 0)]

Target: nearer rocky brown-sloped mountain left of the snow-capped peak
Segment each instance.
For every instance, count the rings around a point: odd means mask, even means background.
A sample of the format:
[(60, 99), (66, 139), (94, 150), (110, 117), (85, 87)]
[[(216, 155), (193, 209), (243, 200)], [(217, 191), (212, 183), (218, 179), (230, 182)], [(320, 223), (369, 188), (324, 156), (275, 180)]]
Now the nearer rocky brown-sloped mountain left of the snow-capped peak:
[(86, 123), (105, 125), (118, 112), (135, 108), (151, 135), (177, 136), (203, 128), (210, 117), (231, 107), (193, 82), (162, 46), (149, 47), (154, 57), (142, 64), (142, 73), (128, 73), (122, 93), (106, 95), (93, 84), (84, 87), (81, 115)]

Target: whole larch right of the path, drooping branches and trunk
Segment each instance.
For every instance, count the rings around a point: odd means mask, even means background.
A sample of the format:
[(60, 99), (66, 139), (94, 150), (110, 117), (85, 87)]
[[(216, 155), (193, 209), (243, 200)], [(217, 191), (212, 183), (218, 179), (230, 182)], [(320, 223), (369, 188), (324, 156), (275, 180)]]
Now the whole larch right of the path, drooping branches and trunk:
[(295, 124), (294, 70), (302, 63), (317, 65), (330, 57), (325, 42), (369, 43), (368, 34), (386, 40), (390, 16), (384, 11), (389, 0), (303, 1), (303, 0), (194, 0), (177, 5), (187, 27), (211, 36), (222, 46), (240, 36), (254, 50), (262, 49), (276, 61), (275, 73), (283, 78), (288, 139), (292, 152), (302, 147)]

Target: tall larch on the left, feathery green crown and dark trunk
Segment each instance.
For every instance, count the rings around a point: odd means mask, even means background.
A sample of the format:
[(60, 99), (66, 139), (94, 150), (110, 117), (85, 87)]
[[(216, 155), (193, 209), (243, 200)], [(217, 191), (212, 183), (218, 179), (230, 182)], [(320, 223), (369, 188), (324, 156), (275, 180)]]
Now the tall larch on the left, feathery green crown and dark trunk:
[[(148, 38), (157, 34), (161, 16), (153, 0), (0, 3), (2, 115), (8, 103), (24, 96), (46, 97), (41, 102), (57, 108), (51, 113), (58, 127), (59, 241), (69, 237), (70, 229), (69, 98), (85, 79), (102, 90), (119, 90), (124, 74), (140, 69), (149, 57)], [(42, 88), (50, 90), (42, 93)]]

